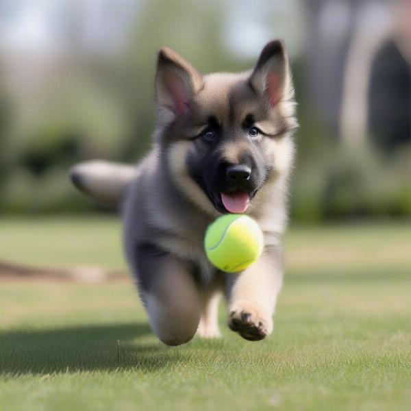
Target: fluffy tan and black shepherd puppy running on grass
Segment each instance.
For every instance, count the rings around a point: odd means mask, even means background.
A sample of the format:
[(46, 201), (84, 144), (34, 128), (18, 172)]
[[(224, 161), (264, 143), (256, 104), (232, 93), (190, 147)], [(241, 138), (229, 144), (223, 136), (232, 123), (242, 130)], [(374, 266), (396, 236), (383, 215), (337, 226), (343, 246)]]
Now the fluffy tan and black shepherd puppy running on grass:
[[(233, 331), (252, 341), (273, 331), (297, 127), (293, 97), (281, 40), (238, 74), (201, 75), (164, 47), (149, 155), (136, 167), (97, 161), (73, 168), (79, 189), (121, 205), (127, 260), (165, 344), (186, 343), (196, 332), (219, 336), (221, 291)], [(249, 214), (264, 232), (260, 260), (237, 274), (215, 269), (203, 250), (206, 228), (227, 212)]]

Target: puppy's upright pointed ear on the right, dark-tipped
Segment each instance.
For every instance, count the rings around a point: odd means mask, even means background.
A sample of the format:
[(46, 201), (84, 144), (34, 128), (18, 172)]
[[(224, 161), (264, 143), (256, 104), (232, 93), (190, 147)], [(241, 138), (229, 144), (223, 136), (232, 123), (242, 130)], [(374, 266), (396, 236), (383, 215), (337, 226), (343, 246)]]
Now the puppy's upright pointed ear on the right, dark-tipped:
[(260, 58), (251, 73), (250, 84), (253, 90), (264, 96), (272, 107), (282, 99), (292, 97), (290, 64), (282, 40), (273, 40), (262, 49)]

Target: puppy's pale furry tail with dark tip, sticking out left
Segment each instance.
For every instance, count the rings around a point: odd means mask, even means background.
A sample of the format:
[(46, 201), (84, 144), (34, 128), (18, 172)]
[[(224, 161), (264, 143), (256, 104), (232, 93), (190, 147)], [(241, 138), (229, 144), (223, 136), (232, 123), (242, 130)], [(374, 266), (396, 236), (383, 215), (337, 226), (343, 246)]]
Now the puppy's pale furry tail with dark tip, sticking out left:
[(79, 163), (70, 171), (71, 181), (80, 191), (112, 206), (119, 206), (137, 175), (136, 166), (103, 160)]

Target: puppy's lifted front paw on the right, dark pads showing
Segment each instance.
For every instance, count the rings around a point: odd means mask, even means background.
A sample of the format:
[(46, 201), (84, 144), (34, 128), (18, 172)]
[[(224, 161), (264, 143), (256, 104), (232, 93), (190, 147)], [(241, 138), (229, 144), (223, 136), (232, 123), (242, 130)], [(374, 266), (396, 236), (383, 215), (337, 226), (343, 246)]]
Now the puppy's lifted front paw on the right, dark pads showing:
[(242, 338), (258, 341), (273, 332), (273, 319), (251, 303), (240, 303), (229, 310), (228, 326)]

